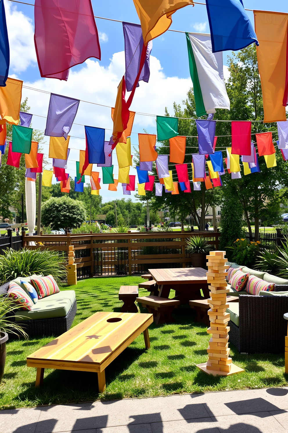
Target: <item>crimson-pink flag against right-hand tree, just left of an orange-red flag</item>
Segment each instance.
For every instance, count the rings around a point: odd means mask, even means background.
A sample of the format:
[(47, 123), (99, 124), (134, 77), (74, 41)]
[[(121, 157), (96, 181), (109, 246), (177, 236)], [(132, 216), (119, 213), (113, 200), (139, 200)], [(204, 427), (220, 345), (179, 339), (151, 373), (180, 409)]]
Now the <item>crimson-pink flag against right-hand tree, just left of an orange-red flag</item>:
[(231, 122), (233, 155), (251, 155), (251, 122)]

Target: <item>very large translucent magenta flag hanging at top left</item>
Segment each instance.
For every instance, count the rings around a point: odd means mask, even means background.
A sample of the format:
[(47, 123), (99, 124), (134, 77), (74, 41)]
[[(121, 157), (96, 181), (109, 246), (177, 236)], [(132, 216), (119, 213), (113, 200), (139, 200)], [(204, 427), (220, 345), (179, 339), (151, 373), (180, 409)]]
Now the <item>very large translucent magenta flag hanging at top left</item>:
[(91, 0), (35, 0), (34, 18), (41, 77), (67, 81), (73, 66), (101, 60)]

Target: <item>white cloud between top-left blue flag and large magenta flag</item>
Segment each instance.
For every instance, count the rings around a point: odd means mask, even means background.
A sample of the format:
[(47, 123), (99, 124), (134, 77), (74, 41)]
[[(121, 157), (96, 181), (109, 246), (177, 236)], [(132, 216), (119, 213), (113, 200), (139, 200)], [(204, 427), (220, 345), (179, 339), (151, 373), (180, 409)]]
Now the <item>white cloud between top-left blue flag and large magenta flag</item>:
[[(6, 23), (10, 47), (10, 71), (22, 72), (37, 62), (32, 19), (5, 1)], [(11, 76), (11, 74), (9, 74)]]

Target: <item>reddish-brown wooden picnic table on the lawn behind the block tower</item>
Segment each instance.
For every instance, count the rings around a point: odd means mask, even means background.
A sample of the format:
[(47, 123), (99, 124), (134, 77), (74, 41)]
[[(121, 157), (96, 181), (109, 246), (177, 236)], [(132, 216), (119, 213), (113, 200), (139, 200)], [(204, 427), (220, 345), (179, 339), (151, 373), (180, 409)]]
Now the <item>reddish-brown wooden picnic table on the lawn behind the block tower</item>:
[(175, 290), (175, 299), (180, 304), (188, 304), (191, 299), (209, 298), (206, 269), (203, 268), (171, 268), (148, 269), (159, 285), (159, 296), (169, 297), (170, 290)]

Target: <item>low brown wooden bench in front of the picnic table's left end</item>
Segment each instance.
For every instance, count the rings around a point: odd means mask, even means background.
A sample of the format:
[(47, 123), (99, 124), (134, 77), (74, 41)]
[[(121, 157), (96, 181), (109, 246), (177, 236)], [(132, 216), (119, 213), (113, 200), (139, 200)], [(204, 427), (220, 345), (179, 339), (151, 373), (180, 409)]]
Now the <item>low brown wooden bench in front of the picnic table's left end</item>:
[(153, 314), (154, 323), (169, 323), (175, 320), (171, 316), (174, 308), (180, 304), (177, 299), (167, 299), (158, 296), (142, 296), (138, 297), (136, 301), (142, 304), (142, 307), (148, 308), (149, 313)]

